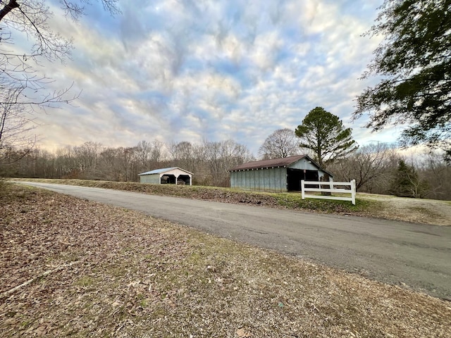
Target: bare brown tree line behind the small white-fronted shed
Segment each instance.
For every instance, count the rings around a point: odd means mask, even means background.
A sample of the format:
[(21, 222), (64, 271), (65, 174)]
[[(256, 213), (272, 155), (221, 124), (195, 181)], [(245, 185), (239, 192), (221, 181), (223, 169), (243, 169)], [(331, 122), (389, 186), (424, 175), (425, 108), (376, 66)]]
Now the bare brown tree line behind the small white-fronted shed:
[[(20, 155), (18, 161), (8, 161)], [(137, 182), (138, 174), (180, 167), (194, 173), (193, 183), (227, 187), (228, 170), (254, 160), (246, 146), (228, 139), (202, 144), (154, 140), (132, 147), (108, 147), (97, 142), (65, 146), (54, 153), (35, 148), (23, 156), (9, 149), (0, 158), (0, 176)]]

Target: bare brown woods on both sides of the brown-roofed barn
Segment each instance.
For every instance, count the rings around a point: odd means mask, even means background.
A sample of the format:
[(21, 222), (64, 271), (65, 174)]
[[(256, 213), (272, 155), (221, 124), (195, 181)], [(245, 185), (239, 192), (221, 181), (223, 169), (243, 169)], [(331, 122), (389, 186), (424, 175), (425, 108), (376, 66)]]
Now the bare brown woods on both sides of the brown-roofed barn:
[[(20, 149), (9, 149), (0, 161), (4, 177), (78, 178), (137, 182), (145, 171), (180, 167), (194, 173), (193, 184), (228, 187), (228, 170), (256, 158), (233, 140), (191, 144), (139, 142), (133, 147), (107, 147), (86, 142), (53, 154), (33, 149), (7, 163)], [(451, 166), (442, 154), (426, 151), (403, 156), (390, 144), (369, 144), (330, 164), (335, 181), (356, 180), (357, 192), (451, 200)]]

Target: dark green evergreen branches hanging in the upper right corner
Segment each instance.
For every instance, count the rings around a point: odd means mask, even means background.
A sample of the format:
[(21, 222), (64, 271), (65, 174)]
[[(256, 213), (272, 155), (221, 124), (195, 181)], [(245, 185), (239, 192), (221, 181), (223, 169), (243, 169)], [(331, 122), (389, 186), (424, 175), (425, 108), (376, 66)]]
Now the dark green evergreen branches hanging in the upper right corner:
[(385, 0), (369, 35), (383, 35), (364, 78), (382, 80), (357, 97), (354, 118), (366, 127), (409, 125), (405, 146), (427, 144), (451, 152), (451, 1)]

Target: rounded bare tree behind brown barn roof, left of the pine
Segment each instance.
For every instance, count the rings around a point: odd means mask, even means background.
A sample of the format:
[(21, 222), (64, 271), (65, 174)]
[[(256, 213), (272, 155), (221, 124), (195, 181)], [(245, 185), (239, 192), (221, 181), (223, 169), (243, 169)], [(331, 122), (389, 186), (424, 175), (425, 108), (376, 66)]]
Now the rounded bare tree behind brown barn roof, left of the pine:
[(299, 154), (299, 141), (292, 129), (278, 129), (266, 137), (260, 146), (259, 156), (264, 159), (284, 158)]

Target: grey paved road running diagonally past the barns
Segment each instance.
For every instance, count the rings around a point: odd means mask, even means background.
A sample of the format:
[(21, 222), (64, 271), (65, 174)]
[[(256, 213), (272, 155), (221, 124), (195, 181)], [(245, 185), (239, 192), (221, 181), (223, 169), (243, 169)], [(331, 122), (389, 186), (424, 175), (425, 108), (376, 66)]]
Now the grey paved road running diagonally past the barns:
[[(25, 183), (25, 182), (21, 182)], [(26, 182), (451, 300), (451, 227)]]

